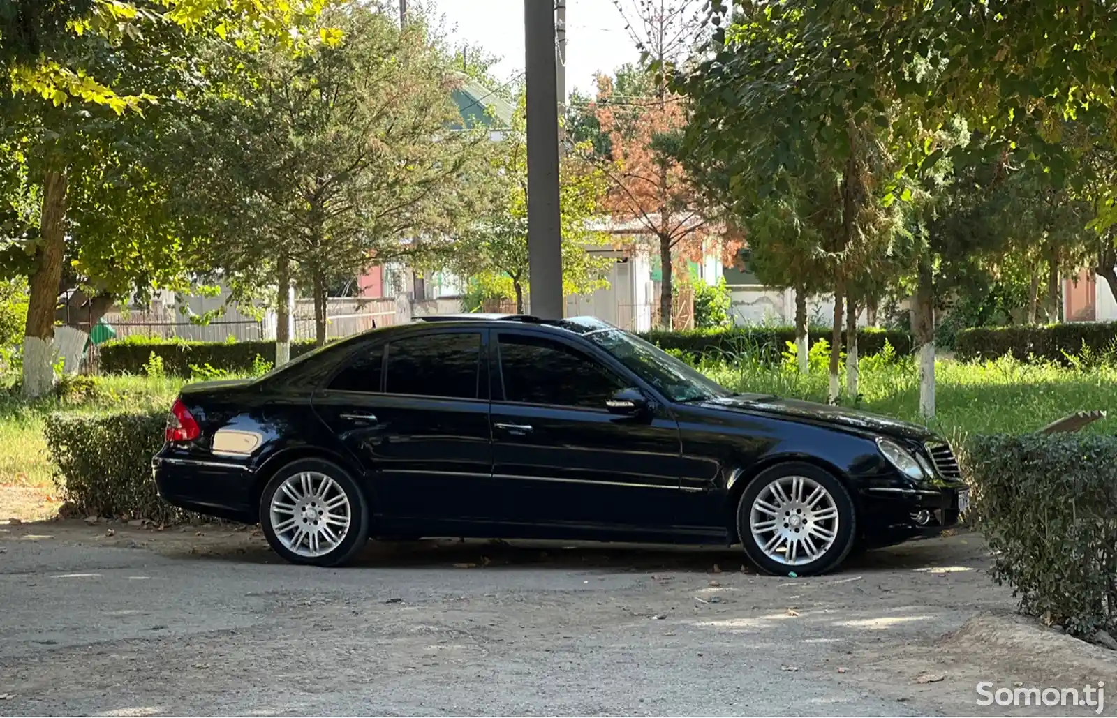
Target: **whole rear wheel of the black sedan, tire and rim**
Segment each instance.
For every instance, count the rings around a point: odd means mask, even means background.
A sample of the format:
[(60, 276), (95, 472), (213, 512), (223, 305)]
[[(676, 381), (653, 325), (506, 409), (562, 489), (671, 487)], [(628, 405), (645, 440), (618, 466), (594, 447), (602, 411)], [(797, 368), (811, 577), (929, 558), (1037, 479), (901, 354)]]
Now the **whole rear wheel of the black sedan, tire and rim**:
[(367, 543), (369, 508), (344, 469), (302, 459), (279, 469), (264, 488), (260, 526), (271, 548), (288, 562), (340, 566)]

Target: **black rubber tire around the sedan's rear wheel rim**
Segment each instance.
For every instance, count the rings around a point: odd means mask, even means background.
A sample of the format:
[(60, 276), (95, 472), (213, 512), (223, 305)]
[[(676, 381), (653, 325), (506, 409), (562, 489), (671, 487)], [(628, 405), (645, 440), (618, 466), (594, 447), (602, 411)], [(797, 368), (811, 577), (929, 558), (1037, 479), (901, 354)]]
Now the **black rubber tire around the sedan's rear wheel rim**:
[[(336, 482), (349, 499), (349, 526), (335, 547), (321, 555), (300, 555), (288, 548), (276, 534), (271, 501), (280, 487), (290, 478), (313, 472), (326, 476)], [(302, 519), (299, 519), (302, 520)], [(283, 467), (271, 477), (260, 495), (260, 528), (271, 549), (288, 563), (303, 566), (342, 566), (356, 556), (369, 543), (369, 502), (364, 494), (345, 469), (324, 459), (299, 459)], [(279, 524), (283, 525), (281, 523)], [(287, 532), (284, 532), (286, 535)]]

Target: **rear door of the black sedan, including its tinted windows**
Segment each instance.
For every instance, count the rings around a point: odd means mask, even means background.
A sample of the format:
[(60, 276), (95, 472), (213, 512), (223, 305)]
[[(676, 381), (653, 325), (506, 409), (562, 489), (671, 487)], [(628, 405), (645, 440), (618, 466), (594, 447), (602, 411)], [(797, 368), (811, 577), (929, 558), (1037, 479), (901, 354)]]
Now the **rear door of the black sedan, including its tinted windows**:
[(490, 517), (486, 333), (430, 331), (359, 353), (315, 409), (372, 476), (373, 510), (401, 528)]

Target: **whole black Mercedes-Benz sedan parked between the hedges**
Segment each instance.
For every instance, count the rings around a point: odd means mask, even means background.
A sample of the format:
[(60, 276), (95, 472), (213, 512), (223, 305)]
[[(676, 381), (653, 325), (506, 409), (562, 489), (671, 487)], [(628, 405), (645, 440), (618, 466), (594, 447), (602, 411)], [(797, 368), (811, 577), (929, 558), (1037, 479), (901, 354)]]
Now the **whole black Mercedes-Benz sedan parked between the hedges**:
[(724, 389), (592, 318), (430, 317), (191, 384), (153, 459), (176, 506), (297, 564), (435, 536), (739, 543), (770, 573), (957, 523), (927, 429)]

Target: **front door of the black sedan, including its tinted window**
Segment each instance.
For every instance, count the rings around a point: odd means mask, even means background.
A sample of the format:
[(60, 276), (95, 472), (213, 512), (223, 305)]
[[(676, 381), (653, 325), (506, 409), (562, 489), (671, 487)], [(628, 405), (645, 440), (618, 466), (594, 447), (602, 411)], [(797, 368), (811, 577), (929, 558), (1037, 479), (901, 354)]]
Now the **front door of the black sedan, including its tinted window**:
[(670, 530), (680, 442), (662, 408), (607, 402), (636, 382), (592, 351), (545, 334), (494, 331), (493, 471), (508, 521), (546, 529)]

